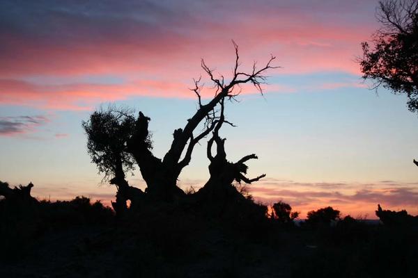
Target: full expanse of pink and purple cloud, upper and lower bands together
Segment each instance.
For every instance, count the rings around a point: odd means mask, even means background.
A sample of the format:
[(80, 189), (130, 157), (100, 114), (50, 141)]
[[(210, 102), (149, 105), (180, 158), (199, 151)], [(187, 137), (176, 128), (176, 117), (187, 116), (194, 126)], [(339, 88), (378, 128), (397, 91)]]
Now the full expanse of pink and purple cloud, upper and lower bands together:
[[(100, 101), (134, 95), (192, 97), (187, 88), (192, 77), (202, 73), (201, 57), (220, 72), (231, 72), (231, 38), (240, 45), (243, 69), (251, 69), (253, 60), (263, 63), (271, 53), (283, 68), (270, 76), (324, 71), (358, 75), (353, 60), (361, 51), (359, 43), (374, 28), (364, 20), (353, 22), (350, 15), (358, 15), (356, 8), (362, 8), (358, 3), (185, 1), (181, 9), (169, 3), (103, 4), (94, 13), (83, 13), (70, 3), (50, 3), (48, 8), (32, 3), (33, 7), (19, 7), (15, 17), (4, 17), (6, 26), (20, 28), (0, 28), (0, 104), (86, 110)], [(219, 5), (224, 10), (216, 16), (208, 13)], [(344, 16), (336, 17), (335, 10), (341, 7)], [(127, 81), (118, 85), (24, 81), (33, 76), (77, 79), (103, 74)], [(266, 88), (291, 91), (272, 86)]]

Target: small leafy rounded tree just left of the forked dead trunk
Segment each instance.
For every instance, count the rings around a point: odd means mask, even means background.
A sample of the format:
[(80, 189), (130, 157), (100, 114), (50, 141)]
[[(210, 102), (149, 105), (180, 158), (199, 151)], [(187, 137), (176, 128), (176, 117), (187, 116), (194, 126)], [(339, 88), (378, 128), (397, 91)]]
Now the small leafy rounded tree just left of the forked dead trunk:
[[(87, 150), (91, 161), (104, 173), (104, 181), (117, 188), (116, 202), (112, 203), (115, 211), (121, 215), (127, 209), (129, 199), (136, 206), (143, 195), (138, 188), (129, 186), (125, 172), (134, 170), (134, 159), (127, 152), (126, 141), (132, 136), (135, 119), (129, 109), (116, 109), (93, 112), (90, 119), (82, 123), (87, 134)], [(150, 135), (147, 134), (146, 147), (152, 149)]]

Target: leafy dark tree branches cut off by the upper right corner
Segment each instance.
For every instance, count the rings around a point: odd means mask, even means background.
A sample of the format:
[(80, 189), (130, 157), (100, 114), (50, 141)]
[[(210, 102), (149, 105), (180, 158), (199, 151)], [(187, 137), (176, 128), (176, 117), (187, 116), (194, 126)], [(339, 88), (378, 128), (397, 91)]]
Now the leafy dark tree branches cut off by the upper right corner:
[(373, 49), (362, 42), (359, 59), (363, 78), (394, 93), (408, 96), (410, 111), (418, 109), (418, 1), (380, 1), (377, 14), (382, 27), (373, 35)]

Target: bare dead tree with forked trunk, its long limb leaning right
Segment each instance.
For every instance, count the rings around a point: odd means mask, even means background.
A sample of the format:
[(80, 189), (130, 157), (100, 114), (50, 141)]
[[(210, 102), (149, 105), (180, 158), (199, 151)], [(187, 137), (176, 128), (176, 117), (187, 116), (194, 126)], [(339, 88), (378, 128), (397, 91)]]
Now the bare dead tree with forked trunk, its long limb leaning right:
[[(217, 106), (224, 108), (225, 99), (233, 99), (240, 94), (240, 84), (251, 83), (261, 93), (261, 85), (265, 83), (266, 76), (263, 75), (267, 70), (274, 69), (271, 65), (275, 59), (271, 56), (268, 63), (264, 67), (258, 69), (256, 63), (254, 63), (251, 72), (240, 72), (240, 57), (238, 55), (238, 45), (233, 43), (235, 48), (235, 65), (233, 67), (233, 76), (231, 81), (226, 82), (224, 76), (220, 75), (219, 78), (215, 77), (214, 70), (212, 70), (205, 61), (201, 60), (201, 67), (208, 74), (210, 81), (214, 84), (215, 97), (210, 99), (208, 103), (203, 104), (201, 98), (201, 84), (200, 79), (194, 81), (195, 88), (192, 91), (196, 94), (198, 99), (199, 108), (196, 113), (187, 120), (187, 124), (183, 129), (176, 129), (173, 132), (173, 141), (171, 147), (165, 154), (164, 158), (157, 158), (153, 153), (146, 147), (144, 143), (148, 136), (148, 122), (149, 117), (146, 117), (143, 113), (139, 113), (137, 118), (135, 132), (132, 138), (127, 142), (127, 149), (130, 154), (135, 158), (135, 161), (139, 165), (142, 177), (146, 181), (148, 186), (147, 192), (150, 195), (157, 197), (158, 199), (173, 199), (173, 197), (183, 195), (183, 190), (180, 190), (176, 186), (176, 181), (180, 175), (180, 172), (185, 166), (189, 164), (192, 158), (192, 152), (194, 146), (202, 139), (208, 136), (208, 134), (215, 129), (215, 126), (220, 127), (223, 122), (229, 123), (226, 120), (219, 120), (217, 115)], [(196, 128), (199, 124), (205, 122), (205, 129), (200, 133), (195, 134)], [(215, 140), (215, 138), (213, 139)], [(219, 140), (217, 140), (219, 142)], [(217, 144), (218, 144), (217, 142)], [(222, 145), (219, 142), (219, 147)], [(187, 146), (187, 148), (186, 148)], [(181, 159), (183, 152), (185, 156)], [(233, 167), (244, 167), (245, 161), (256, 158), (256, 156), (247, 156), (242, 158), (238, 163), (233, 164)], [(232, 166), (231, 166), (232, 167)], [(242, 172), (242, 171), (241, 171)], [(241, 173), (240, 172), (240, 173)], [(260, 177), (259, 177), (260, 178)], [(242, 174), (233, 179), (242, 180), (251, 183), (251, 179), (245, 178)]]

